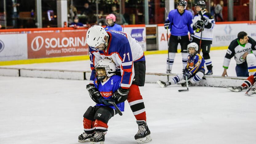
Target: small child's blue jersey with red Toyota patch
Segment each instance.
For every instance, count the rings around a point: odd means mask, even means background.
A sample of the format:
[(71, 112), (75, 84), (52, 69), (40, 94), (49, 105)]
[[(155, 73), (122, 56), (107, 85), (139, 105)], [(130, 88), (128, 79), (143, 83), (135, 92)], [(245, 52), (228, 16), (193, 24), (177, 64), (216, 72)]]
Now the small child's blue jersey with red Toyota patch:
[[(97, 82), (97, 78), (94, 80), (95, 87), (99, 90), (100, 94), (104, 99), (111, 98), (114, 92), (121, 87), (121, 76), (113, 75), (106, 80), (106, 82)], [(105, 104), (97, 104), (95, 106), (106, 106)], [(115, 109), (113, 105), (109, 107)], [(119, 110), (124, 111), (124, 102), (118, 103), (117, 107)]]

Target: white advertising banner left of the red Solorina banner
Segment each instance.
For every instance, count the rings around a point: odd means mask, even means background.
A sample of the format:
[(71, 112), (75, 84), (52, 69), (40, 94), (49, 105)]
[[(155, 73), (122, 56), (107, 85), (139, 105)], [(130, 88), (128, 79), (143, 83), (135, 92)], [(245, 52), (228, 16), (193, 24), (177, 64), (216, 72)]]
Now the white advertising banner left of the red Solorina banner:
[(27, 34), (0, 35), (0, 61), (27, 58)]

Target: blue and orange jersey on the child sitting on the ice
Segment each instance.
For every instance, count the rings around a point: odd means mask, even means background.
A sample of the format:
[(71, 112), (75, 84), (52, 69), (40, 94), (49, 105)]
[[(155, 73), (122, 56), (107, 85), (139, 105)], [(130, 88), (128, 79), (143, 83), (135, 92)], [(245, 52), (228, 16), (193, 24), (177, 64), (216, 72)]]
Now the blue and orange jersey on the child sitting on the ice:
[(204, 58), (200, 54), (196, 54), (195, 56), (188, 56), (188, 64), (186, 69), (191, 72), (191, 74), (195, 74), (198, 70), (204, 69)]

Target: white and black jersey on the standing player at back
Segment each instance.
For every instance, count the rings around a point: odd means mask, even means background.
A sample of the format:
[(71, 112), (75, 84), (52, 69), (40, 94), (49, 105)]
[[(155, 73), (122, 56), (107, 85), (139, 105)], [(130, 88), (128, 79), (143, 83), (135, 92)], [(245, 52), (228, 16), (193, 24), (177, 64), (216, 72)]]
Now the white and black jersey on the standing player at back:
[[(203, 14), (203, 17), (208, 21), (208, 24), (206, 26), (204, 26), (204, 30), (202, 32), (202, 40), (212, 41), (212, 39), (213, 39), (212, 30), (215, 25), (214, 18), (210, 13), (207, 13), (206, 11), (203, 11), (202, 14)], [(201, 32), (196, 32), (194, 24), (200, 20), (201, 20), (201, 15), (196, 14), (196, 15), (194, 15), (194, 18), (192, 19), (192, 24), (191, 24), (191, 27), (194, 30), (194, 38), (198, 38), (198, 39), (201, 38)], [(211, 44), (211, 42), (210, 42), (210, 44)]]

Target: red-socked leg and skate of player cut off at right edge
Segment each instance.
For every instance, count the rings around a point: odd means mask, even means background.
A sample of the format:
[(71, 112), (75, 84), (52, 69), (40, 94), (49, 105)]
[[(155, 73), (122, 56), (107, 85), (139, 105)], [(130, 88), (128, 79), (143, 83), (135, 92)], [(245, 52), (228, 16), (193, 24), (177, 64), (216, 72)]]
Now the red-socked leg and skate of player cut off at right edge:
[[(249, 76), (246, 81), (242, 83), (241, 86), (231, 86), (228, 89), (231, 91), (239, 92), (242, 90), (248, 89), (251, 85), (253, 85), (256, 82), (256, 73), (254, 75)], [(256, 89), (256, 84), (254, 85), (254, 90)], [(256, 91), (255, 91), (256, 92)]]

